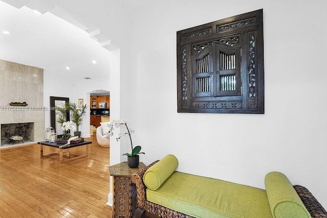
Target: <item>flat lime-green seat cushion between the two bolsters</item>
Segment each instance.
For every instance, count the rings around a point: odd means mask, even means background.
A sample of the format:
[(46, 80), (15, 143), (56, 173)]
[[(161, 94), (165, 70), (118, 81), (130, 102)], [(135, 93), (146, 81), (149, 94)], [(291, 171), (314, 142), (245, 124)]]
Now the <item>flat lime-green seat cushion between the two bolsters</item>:
[(180, 172), (147, 199), (194, 217), (272, 217), (263, 189)]

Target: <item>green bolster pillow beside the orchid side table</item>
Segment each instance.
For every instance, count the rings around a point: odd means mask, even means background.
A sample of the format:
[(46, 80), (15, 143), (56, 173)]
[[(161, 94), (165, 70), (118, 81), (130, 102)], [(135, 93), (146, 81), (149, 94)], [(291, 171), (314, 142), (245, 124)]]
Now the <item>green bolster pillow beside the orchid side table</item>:
[(178, 160), (174, 155), (167, 155), (148, 168), (143, 176), (144, 184), (151, 190), (156, 190), (174, 173)]

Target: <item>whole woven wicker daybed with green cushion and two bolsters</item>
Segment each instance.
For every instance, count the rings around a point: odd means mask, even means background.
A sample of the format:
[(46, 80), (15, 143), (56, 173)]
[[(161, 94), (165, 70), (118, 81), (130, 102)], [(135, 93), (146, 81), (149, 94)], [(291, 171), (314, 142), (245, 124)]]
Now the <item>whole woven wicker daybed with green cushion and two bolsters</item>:
[[(176, 172), (177, 165), (176, 157), (168, 155), (132, 175), (141, 211), (161, 217), (299, 218), (312, 215), (282, 173), (269, 173), (264, 190)], [(327, 217), (327, 212), (320, 210)]]

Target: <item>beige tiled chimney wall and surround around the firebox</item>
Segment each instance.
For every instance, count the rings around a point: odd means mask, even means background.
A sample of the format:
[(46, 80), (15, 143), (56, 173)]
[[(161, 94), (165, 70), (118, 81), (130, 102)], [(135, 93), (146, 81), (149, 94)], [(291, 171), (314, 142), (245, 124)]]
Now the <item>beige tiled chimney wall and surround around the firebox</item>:
[[(10, 106), (10, 102), (28, 105), (15, 107)], [(41, 141), (44, 138), (44, 113), (43, 69), (0, 60), (0, 124), (33, 123), (29, 140)], [(3, 144), (6, 140), (2, 132), (0, 129)]]

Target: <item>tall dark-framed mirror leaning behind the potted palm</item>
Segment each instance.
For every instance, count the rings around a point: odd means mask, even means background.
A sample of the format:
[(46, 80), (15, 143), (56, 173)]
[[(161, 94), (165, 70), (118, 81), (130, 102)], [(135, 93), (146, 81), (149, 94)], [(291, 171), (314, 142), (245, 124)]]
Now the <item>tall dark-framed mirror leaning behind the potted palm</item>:
[[(57, 113), (55, 111), (55, 106), (61, 107), (65, 103), (69, 103), (69, 98), (50, 96), (50, 107), (51, 107), (50, 124), (51, 124), (51, 127), (54, 128), (54, 130), (57, 133), (58, 137), (61, 137), (62, 129), (61, 129), (60, 124), (56, 122), (56, 120), (58, 118), (58, 115), (57, 115)], [(66, 121), (69, 121), (69, 111), (67, 111), (66, 117), (67, 117)]]

